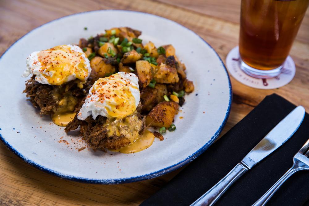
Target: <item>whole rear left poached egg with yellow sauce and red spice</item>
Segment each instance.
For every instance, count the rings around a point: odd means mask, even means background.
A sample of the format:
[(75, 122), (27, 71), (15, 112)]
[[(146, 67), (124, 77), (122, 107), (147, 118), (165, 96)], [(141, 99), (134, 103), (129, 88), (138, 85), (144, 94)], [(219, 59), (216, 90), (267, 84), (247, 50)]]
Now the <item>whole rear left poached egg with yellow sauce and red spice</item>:
[(41, 84), (61, 85), (74, 79), (85, 82), (91, 73), (88, 58), (78, 46), (59, 45), (31, 53), (23, 77), (35, 74)]

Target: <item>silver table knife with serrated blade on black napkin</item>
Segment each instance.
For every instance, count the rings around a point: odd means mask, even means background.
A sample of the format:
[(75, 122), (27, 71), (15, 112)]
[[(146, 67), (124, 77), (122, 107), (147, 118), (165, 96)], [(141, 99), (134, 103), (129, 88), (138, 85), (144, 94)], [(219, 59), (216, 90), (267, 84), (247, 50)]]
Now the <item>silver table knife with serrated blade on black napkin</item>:
[(213, 205), (220, 196), (246, 171), (284, 144), (302, 124), (305, 108), (296, 107), (283, 120), (281, 120), (224, 178), (204, 195), (197, 199), (193, 205)]

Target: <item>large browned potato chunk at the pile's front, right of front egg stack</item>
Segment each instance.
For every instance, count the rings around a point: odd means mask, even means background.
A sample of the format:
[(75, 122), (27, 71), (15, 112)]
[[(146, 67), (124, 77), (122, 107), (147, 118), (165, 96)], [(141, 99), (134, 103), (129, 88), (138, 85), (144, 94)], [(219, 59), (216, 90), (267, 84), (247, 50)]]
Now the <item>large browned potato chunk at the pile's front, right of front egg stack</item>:
[(176, 102), (160, 102), (146, 116), (146, 126), (170, 127), (178, 107)]

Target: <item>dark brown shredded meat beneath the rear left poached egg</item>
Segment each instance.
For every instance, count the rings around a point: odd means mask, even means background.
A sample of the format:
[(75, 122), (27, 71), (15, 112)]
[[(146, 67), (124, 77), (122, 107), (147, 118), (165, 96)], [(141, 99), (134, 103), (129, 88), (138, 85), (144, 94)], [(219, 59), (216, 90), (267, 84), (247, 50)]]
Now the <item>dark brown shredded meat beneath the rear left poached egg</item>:
[[(59, 106), (59, 100), (61, 96), (57, 97), (54, 93), (57, 91), (60, 95), (64, 93), (72, 95), (78, 103), (88, 93), (91, 87), (90, 81), (84, 84), (84, 88), (80, 89), (77, 87), (76, 82), (70, 81), (60, 86), (41, 84), (35, 81), (35, 75), (33, 75), (28, 81), (26, 81), (26, 88), (23, 93), (26, 93), (26, 97), (29, 97), (29, 101), (34, 107), (40, 109), (40, 114), (49, 115), (52, 114)], [(60, 91), (60, 92), (58, 92)], [(61, 94), (61, 92), (63, 92)]]

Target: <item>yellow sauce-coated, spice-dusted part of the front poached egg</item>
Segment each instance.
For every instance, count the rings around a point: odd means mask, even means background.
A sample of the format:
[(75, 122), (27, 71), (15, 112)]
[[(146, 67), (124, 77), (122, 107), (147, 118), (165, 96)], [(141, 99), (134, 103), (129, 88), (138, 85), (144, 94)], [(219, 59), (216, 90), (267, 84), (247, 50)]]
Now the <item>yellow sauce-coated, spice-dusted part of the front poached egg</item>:
[[(106, 110), (109, 116), (123, 118), (132, 114), (136, 109), (135, 98), (130, 91), (139, 90), (138, 87), (119, 74), (99, 78), (92, 88), (92, 95), (98, 96), (101, 103), (107, 105)], [(91, 99), (90, 101), (95, 101)]]

